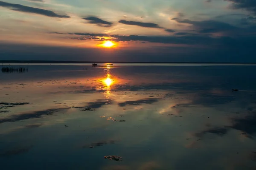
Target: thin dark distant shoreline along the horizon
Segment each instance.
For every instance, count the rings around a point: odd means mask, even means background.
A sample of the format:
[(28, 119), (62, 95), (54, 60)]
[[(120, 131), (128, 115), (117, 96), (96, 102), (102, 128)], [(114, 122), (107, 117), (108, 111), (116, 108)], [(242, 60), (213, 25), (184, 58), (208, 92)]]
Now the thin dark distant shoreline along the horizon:
[(49, 61), (49, 60), (0, 60), (0, 63), (129, 63), (129, 64), (256, 64), (255, 62), (96, 62), (96, 61)]

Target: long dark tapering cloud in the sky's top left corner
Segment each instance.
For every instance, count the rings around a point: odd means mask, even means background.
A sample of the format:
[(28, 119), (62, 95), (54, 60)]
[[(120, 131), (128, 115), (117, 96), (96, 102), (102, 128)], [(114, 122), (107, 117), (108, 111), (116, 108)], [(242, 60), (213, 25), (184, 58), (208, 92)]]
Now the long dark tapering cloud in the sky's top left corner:
[(59, 14), (54, 13), (53, 11), (49, 11), (49, 10), (45, 10), (45, 9), (41, 9), (41, 8), (33, 8), (30, 6), (23, 6), (23, 5), (15, 4), (15, 3), (6, 3), (3, 1), (0, 1), (0, 6), (9, 8), (13, 11), (40, 14), (40, 15), (44, 15), (47, 17), (70, 18), (70, 16), (59, 15)]

